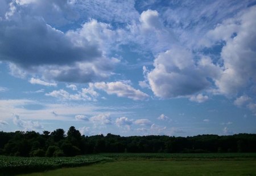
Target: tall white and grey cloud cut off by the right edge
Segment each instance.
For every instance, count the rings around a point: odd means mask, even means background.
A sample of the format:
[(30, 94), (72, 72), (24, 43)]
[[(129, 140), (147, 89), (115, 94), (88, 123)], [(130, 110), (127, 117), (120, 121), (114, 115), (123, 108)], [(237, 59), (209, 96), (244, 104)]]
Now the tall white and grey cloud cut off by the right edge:
[(221, 94), (236, 96), (239, 91), (255, 85), (255, 18), (256, 6), (252, 6), (208, 32), (211, 45), (225, 42), (221, 50), (223, 71), (215, 82)]

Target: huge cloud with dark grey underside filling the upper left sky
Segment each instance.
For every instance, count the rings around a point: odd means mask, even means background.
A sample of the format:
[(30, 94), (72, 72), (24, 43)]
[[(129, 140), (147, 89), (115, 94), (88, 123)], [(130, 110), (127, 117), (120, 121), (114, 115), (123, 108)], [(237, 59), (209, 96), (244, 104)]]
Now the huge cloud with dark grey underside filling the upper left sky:
[[(108, 41), (113, 41), (113, 35), (117, 35), (109, 24), (91, 20), (80, 28), (62, 32), (53, 27), (57, 24), (51, 23), (55, 16), (52, 14), (55, 11), (68, 13), (71, 3), (24, 2), (13, 2), (8, 7), (8, 18), (0, 20), (0, 58), (10, 63), (11, 74), (77, 83), (102, 81), (112, 74), (119, 61), (105, 56), (111, 48)], [(50, 9), (51, 18), (47, 18), (42, 9)]]

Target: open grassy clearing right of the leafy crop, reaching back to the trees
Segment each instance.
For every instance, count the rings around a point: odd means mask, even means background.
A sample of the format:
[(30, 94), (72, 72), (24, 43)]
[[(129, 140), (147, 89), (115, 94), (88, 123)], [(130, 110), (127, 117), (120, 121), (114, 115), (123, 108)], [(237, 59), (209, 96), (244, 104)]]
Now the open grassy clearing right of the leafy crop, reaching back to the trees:
[[(43, 175), (255, 175), (255, 153), (113, 153), (112, 160), (76, 168), (61, 168), (23, 176)], [(20, 175), (20, 176), (21, 176)]]

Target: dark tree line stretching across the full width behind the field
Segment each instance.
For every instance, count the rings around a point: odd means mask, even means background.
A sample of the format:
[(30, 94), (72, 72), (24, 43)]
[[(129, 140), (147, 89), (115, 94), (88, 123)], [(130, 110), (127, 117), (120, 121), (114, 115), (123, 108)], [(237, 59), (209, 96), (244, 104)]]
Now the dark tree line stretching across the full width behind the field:
[(0, 154), (24, 157), (76, 156), (89, 153), (216, 153), (256, 152), (256, 134), (229, 136), (197, 135), (128, 136), (107, 134), (85, 136), (71, 126), (65, 134), (53, 132), (0, 131)]

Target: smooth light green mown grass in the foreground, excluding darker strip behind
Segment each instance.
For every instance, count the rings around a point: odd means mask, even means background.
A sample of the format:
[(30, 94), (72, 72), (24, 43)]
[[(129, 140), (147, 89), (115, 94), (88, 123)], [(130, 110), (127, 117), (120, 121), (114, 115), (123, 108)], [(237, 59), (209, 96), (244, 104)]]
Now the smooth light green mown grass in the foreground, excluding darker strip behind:
[[(115, 161), (26, 176), (47, 175), (256, 175), (256, 161)], [(25, 176), (23, 175), (23, 176)], [(19, 175), (22, 176), (22, 175)]]

